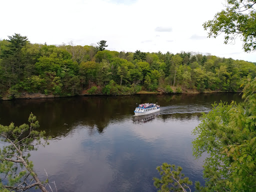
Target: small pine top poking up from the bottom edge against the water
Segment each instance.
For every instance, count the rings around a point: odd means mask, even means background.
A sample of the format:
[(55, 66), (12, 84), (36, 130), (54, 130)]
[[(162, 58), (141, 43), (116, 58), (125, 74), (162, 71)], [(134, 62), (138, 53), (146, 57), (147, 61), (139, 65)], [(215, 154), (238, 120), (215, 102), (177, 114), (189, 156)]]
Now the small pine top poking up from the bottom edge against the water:
[(182, 168), (180, 166), (175, 167), (174, 164), (170, 165), (166, 162), (162, 163), (161, 166), (157, 166), (161, 178), (154, 177), (154, 186), (160, 188), (159, 192), (167, 191), (191, 191), (189, 185), (192, 181), (188, 180), (188, 177), (184, 177), (181, 173)]

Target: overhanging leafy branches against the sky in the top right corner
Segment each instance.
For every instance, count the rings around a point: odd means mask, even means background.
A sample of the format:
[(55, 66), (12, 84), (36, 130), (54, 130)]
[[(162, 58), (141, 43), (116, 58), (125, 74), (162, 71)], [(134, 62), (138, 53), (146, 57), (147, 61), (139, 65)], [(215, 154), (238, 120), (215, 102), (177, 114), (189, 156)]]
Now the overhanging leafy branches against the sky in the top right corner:
[(255, 0), (227, 0), (225, 10), (217, 12), (212, 20), (203, 23), (209, 29), (208, 37), (224, 33), (227, 44), (240, 36), (245, 52), (256, 50), (256, 11)]

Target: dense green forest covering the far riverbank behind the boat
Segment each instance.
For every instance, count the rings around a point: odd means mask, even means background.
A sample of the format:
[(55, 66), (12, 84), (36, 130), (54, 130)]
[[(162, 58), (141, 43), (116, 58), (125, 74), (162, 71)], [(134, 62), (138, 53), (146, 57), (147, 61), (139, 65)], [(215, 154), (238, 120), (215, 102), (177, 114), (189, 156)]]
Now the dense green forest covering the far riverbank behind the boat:
[(140, 89), (238, 91), (256, 76), (254, 63), (212, 55), (106, 50), (99, 46), (30, 43), (14, 34), (0, 40), (0, 96), (20, 92), (60, 96), (132, 94)]

